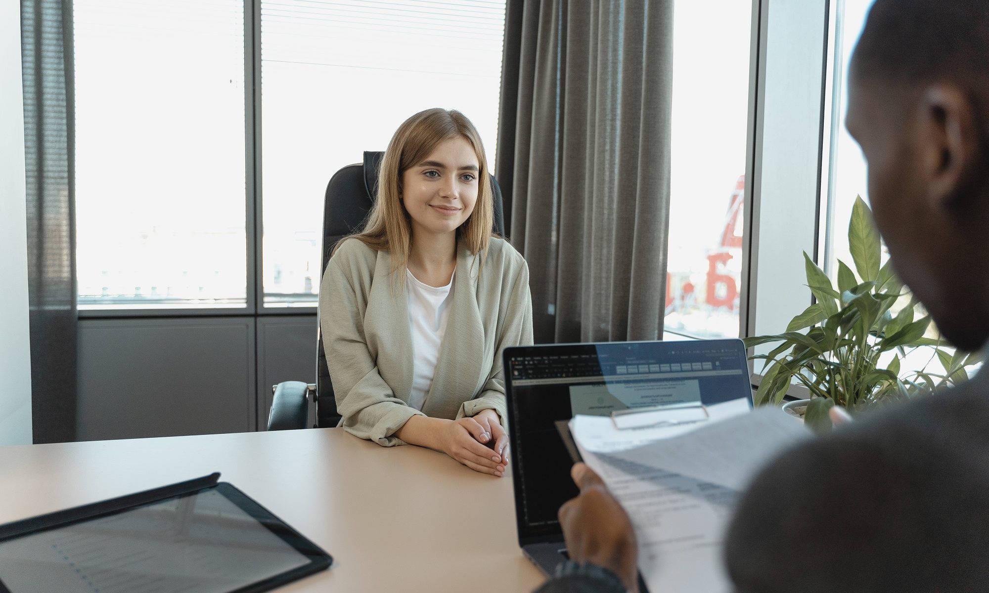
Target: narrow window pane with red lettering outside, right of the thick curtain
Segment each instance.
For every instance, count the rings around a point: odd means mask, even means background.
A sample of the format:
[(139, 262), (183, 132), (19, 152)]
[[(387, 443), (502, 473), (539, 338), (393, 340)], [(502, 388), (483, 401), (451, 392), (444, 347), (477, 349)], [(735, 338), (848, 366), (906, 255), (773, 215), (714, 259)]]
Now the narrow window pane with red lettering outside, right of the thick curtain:
[(668, 338), (739, 335), (752, 3), (676, 2)]

